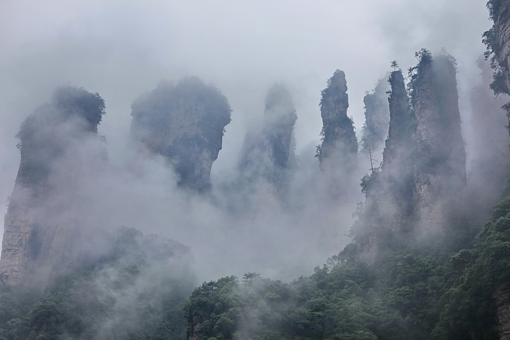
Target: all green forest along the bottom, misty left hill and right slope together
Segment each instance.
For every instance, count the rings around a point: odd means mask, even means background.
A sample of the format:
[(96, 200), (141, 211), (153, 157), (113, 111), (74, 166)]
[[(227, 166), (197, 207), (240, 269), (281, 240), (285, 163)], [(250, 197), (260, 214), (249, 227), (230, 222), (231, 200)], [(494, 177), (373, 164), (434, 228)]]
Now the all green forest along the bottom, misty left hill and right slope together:
[[(42, 297), (4, 290), (0, 338), (179, 339), (184, 305), (197, 339), (494, 338), (492, 292), (510, 280), (510, 197), (474, 245), (456, 253), (447, 242), (391, 242), (367, 265), (350, 244), (309, 277), (224, 277), (197, 287), (187, 302), (188, 250), (157, 240), (122, 228), (107, 254)], [(162, 271), (168, 258), (177, 265)]]

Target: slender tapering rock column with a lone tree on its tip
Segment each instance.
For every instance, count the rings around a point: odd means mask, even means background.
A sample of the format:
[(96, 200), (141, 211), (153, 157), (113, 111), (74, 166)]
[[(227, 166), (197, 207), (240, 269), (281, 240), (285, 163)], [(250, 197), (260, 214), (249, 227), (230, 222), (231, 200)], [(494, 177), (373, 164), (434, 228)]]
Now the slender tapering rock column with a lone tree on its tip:
[(389, 102), (390, 123), (380, 172), (363, 178), (364, 216), (368, 234), (358, 241), (358, 257), (372, 262), (378, 247), (391, 232), (400, 234), (413, 212), (412, 122), (409, 97), (400, 70), (391, 72)]

